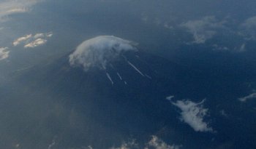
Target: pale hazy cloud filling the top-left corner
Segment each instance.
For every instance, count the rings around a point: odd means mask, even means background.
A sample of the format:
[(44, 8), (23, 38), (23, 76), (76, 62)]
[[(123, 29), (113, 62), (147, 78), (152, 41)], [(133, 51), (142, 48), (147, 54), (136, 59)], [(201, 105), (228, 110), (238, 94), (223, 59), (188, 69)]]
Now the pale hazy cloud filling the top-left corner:
[(15, 13), (29, 11), (29, 7), (36, 4), (37, 0), (4, 0), (0, 2), (0, 22), (6, 20), (5, 17)]

